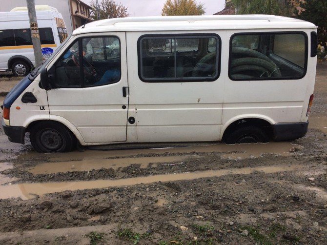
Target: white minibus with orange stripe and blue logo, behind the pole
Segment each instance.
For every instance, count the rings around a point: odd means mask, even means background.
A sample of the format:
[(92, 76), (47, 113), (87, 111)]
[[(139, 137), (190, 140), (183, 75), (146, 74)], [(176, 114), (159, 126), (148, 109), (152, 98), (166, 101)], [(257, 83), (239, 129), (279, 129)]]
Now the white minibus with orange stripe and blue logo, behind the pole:
[[(37, 5), (36, 14), (43, 61), (68, 37), (61, 13), (47, 5)], [(26, 76), (35, 66), (27, 7), (0, 13), (0, 71)]]

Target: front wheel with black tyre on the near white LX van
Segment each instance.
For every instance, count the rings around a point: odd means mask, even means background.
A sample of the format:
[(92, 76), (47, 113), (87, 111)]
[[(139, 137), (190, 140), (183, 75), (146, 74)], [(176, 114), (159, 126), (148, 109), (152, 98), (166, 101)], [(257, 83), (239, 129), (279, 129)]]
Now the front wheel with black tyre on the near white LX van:
[(73, 133), (59, 122), (39, 122), (31, 128), (30, 140), (37, 152), (68, 152), (76, 148)]

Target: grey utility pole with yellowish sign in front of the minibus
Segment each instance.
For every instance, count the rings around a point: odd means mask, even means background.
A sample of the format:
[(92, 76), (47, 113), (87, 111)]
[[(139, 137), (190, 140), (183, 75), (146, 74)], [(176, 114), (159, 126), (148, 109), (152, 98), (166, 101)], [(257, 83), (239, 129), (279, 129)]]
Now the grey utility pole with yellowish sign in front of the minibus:
[(36, 18), (35, 1), (34, 0), (26, 0), (26, 2), (27, 2), (27, 12), (28, 12), (28, 17), (29, 17), (29, 23), (31, 26), (31, 36), (32, 36), (35, 64), (36, 64), (36, 67), (38, 67), (39, 65), (42, 64), (43, 57), (42, 57), (38, 20)]

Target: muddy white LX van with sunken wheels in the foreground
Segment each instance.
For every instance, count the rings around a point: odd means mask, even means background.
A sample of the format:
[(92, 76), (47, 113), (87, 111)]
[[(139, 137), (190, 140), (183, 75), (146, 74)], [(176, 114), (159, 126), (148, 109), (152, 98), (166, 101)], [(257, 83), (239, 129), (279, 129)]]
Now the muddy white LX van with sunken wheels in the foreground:
[(316, 28), (268, 15), (92, 22), (13, 88), (2, 125), (16, 143), (30, 132), (40, 152), (300, 138), (313, 99)]

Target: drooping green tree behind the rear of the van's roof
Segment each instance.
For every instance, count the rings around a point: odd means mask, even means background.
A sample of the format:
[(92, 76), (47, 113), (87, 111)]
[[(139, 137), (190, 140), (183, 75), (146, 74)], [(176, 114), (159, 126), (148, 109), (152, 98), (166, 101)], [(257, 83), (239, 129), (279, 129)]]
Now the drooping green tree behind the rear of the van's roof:
[(299, 0), (232, 0), (237, 14), (291, 16)]

